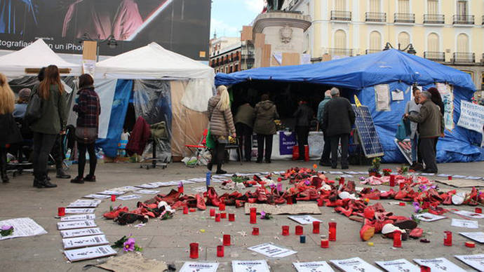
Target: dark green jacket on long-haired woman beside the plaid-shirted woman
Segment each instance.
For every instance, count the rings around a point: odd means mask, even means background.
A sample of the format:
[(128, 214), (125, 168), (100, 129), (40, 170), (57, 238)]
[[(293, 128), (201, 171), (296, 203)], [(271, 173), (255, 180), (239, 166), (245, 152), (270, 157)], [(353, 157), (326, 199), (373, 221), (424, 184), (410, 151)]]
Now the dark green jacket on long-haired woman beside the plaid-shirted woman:
[[(39, 86), (35, 86), (32, 93), (37, 92)], [(59, 93), (57, 85), (51, 85), (47, 100), (42, 100), (42, 115), (39, 120), (30, 125), (32, 132), (43, 134), (59, 134), (65, 130), (67, 123), (66, 93)]]

